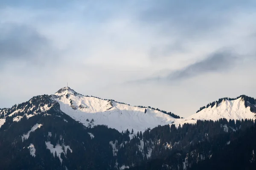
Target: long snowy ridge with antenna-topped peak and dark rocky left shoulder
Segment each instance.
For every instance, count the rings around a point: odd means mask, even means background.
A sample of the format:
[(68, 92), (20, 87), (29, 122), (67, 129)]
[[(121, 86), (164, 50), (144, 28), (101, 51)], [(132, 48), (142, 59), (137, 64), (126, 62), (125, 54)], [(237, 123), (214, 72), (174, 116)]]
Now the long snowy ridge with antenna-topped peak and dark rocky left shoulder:
[(69, 87), (59, 89), (52, 95), (34, 96), (12, 108), (0, 109), (0, 126), (6, 118), (18, 122), (46, 112), (51, 107), (64, 112), (86, 127), (108, 125), (119, 132), (134, 130), (134, 133), (177, 122), (174, 117), (153, 108), (135, 107), (113, 100), (84, 96)]

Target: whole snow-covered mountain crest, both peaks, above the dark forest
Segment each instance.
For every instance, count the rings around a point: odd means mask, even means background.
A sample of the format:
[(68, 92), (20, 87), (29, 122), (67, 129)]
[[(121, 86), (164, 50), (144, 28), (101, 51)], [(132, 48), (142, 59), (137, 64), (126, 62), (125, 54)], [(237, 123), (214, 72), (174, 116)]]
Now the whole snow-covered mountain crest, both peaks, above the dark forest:
[(28, 102), (14, 105), (12, 108), (0, 109), (0, 127), (8, 117), (18, 122), (24, 116), (29, 119), (42, 111), (48, 111), (53, 106), (55, 111), (66, 113), (86, 127), (107, 125), (119, 132), (133, 129), (134, 133), (158, 125), (174, 124), (177, 127), (184, 123), (196, 123), (197, 120), (256, 118), (255, 99), (244, 95), (236, 99), (219, 99), (200, 108), (198, 113), (186, 119), (175, 119), (154, 108), (136, 107), (113, 100), (83, 96), (69, 87), (64, 87), (53, 95), (35, 96)]

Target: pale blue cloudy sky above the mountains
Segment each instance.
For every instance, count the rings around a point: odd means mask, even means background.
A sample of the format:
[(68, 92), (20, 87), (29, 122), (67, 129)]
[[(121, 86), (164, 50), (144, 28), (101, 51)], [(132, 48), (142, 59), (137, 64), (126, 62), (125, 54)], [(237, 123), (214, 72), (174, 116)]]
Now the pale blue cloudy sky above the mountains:
[(256, 97), (255, 0), (1, 0), (0, 108), (69, 87), (186, 117)]

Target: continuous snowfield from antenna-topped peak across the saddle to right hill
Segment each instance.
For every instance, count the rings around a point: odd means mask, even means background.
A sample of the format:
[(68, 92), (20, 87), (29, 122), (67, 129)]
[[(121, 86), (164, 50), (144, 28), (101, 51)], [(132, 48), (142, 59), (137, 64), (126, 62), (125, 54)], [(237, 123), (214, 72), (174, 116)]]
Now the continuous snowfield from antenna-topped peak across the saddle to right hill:
[[(187, 117), (186, 119), (175, 119), (160, 111), (150, 108), (139, 108), (135, 106), (120, 104), (111, 100), (103, 100), (96, 97), (87, 97), (77, 94), (72, 89), (65, 87), (52, 95), (52, 99), (60, 104), (61, 111), (81, 122), (86, 127), (96, 125), (108, 125), (119, 132), (134, 129), (134, 134), (144, 132), (148, 128), (158, 125), (172, 125), (176, 127), (184, 123), (195, 124), (200, 120), (229, 119), (255, 119), (255, 113), (250, 107), (245, 108), (244, 100), (224, 100), (213, 108), (205, 108), (202, 111)], [(89, 121), (86, 121), (86, 120)], [(91, 121), (93, 119), (93, 121)], [(130, 136), (133, 138), (133, 136)]]

